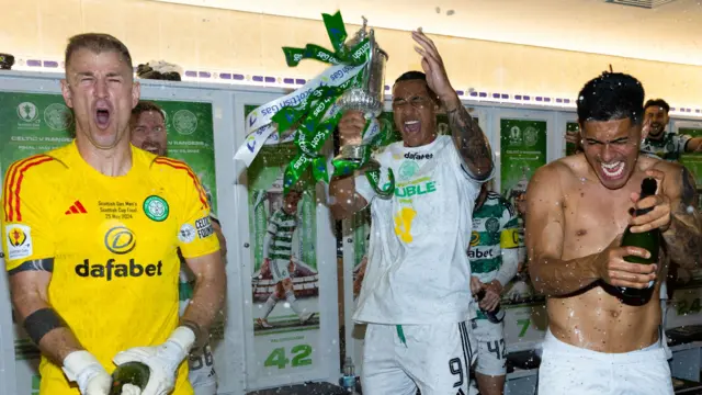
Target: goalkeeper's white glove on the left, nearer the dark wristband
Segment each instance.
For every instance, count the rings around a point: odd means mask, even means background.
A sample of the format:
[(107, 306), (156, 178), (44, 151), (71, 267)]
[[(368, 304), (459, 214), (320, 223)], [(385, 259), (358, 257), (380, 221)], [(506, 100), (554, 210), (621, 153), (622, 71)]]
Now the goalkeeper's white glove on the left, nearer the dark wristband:
[[(107, 395), (112, 376), (86, 350), (73, 351), (64, 359), (64, 373), (69, 381), (78, 383), (82, 395)], [(138, 395), (138, 394), (137, 394)]]

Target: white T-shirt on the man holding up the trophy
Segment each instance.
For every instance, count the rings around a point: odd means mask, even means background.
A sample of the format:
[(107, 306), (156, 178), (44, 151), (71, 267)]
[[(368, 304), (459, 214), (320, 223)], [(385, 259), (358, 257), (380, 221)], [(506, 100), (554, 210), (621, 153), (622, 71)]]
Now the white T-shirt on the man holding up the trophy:
[(365, 177), (355, 190), (371, 204), (369, 263), (354, 319), (374, 324), (460, 323), (471, 308), (465, 253), (479, 183), (463, 168), (451, 136), (422, 147), (394, 143), (377, 153), (395, 193), (376, 196)]

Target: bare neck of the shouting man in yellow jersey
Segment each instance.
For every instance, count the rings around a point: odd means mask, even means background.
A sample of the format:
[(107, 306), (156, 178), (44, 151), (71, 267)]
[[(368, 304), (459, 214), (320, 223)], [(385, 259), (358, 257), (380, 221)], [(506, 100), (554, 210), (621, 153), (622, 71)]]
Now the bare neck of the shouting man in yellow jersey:
[(104, 176), (125, 176), (132, 169), (132, 147), (127, 139), (110, 149), (98, 148), (82, 139), (76, 139), (76, 145), (83, 160)]

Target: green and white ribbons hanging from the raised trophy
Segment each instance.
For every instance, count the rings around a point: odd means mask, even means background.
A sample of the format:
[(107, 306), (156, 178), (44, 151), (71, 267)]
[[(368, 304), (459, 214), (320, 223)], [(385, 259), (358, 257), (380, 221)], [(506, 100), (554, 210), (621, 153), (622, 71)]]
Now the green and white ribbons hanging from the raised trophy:
[[(362, 71), (371, 55), (371, 43), (363, 40), (353, 48), (344, 45), (347, 38), (346, 27), (341, 13), (333, 15), (322, 14), (327, 34), (333, 52), (315, 44), (308, 44), (304, 48), (284, 47), (285, 60), (290, 67), (295, 67), (303, 59), (316, 59), (330, 65), (320, 76), (309, 80), (298, 90), (263, 104), (246, 117), (246, 140), (239, 147), (235, 159), (242, 160), (250, 166), (264, 145), (280, 144), (288, 140), (286, 132), (294, 131), (294, 142), (298, 148), (297, 155), (285, 168), (283, 188), (285, 193), (299, 180), (307, 167), (312, 167), (315, 181), (329, 181), (327, 162), (319, 151), (329, 136), (333, 133), (341, 112), (336, 102), (347, 90), (358, 87), (361, 82)], [(374, 127), (375, 125), (375, 127)], [(275, 133), (278, 132), (278, 133)], [(366, 124), (363, 133), (366, 143), (375, 142), (382, 128), (377, 122)], [(370, 150), (369, 155), (370, 157)], [(367, 161), (369, 158), (364, 158)], [(335, 174), (346, 174), (355, 170), (359, 163), (336, 161)], [(377, 172), (377, 170), (372, 170)], [(380, 173), (370, 174), (369, 181), (377, 189)], [(371, 179), (374, 181), (371, 181)], [(393, 179), (392, 172), (389, 178)], [(394, 182), (392, 182), (394, 185)], [(392, 193), (394, 187), (388, 189)], [(386, 195), (387, 191), (383, 193)]]

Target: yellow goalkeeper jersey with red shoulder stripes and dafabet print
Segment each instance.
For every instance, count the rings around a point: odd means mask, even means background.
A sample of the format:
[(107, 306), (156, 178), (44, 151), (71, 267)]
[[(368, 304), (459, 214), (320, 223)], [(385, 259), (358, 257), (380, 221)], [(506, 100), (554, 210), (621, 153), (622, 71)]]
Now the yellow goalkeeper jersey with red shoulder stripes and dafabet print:
[[(178, 326), (178, 249), (219, 249), (203, 228), (210, 206), (193, 171), (135, 147), (122, 177), (95, 171), (75, 142), (14, 162), (2, 214), (9, 275), (37, 262), (52, 271), (52, 307), (107, 372), (117, 352), (160, 345)], [(48, 359), (39, 373), (41, 394), (79, 395)], [(182, 363), (172, 394), (193, 393), (186, 377)]]

